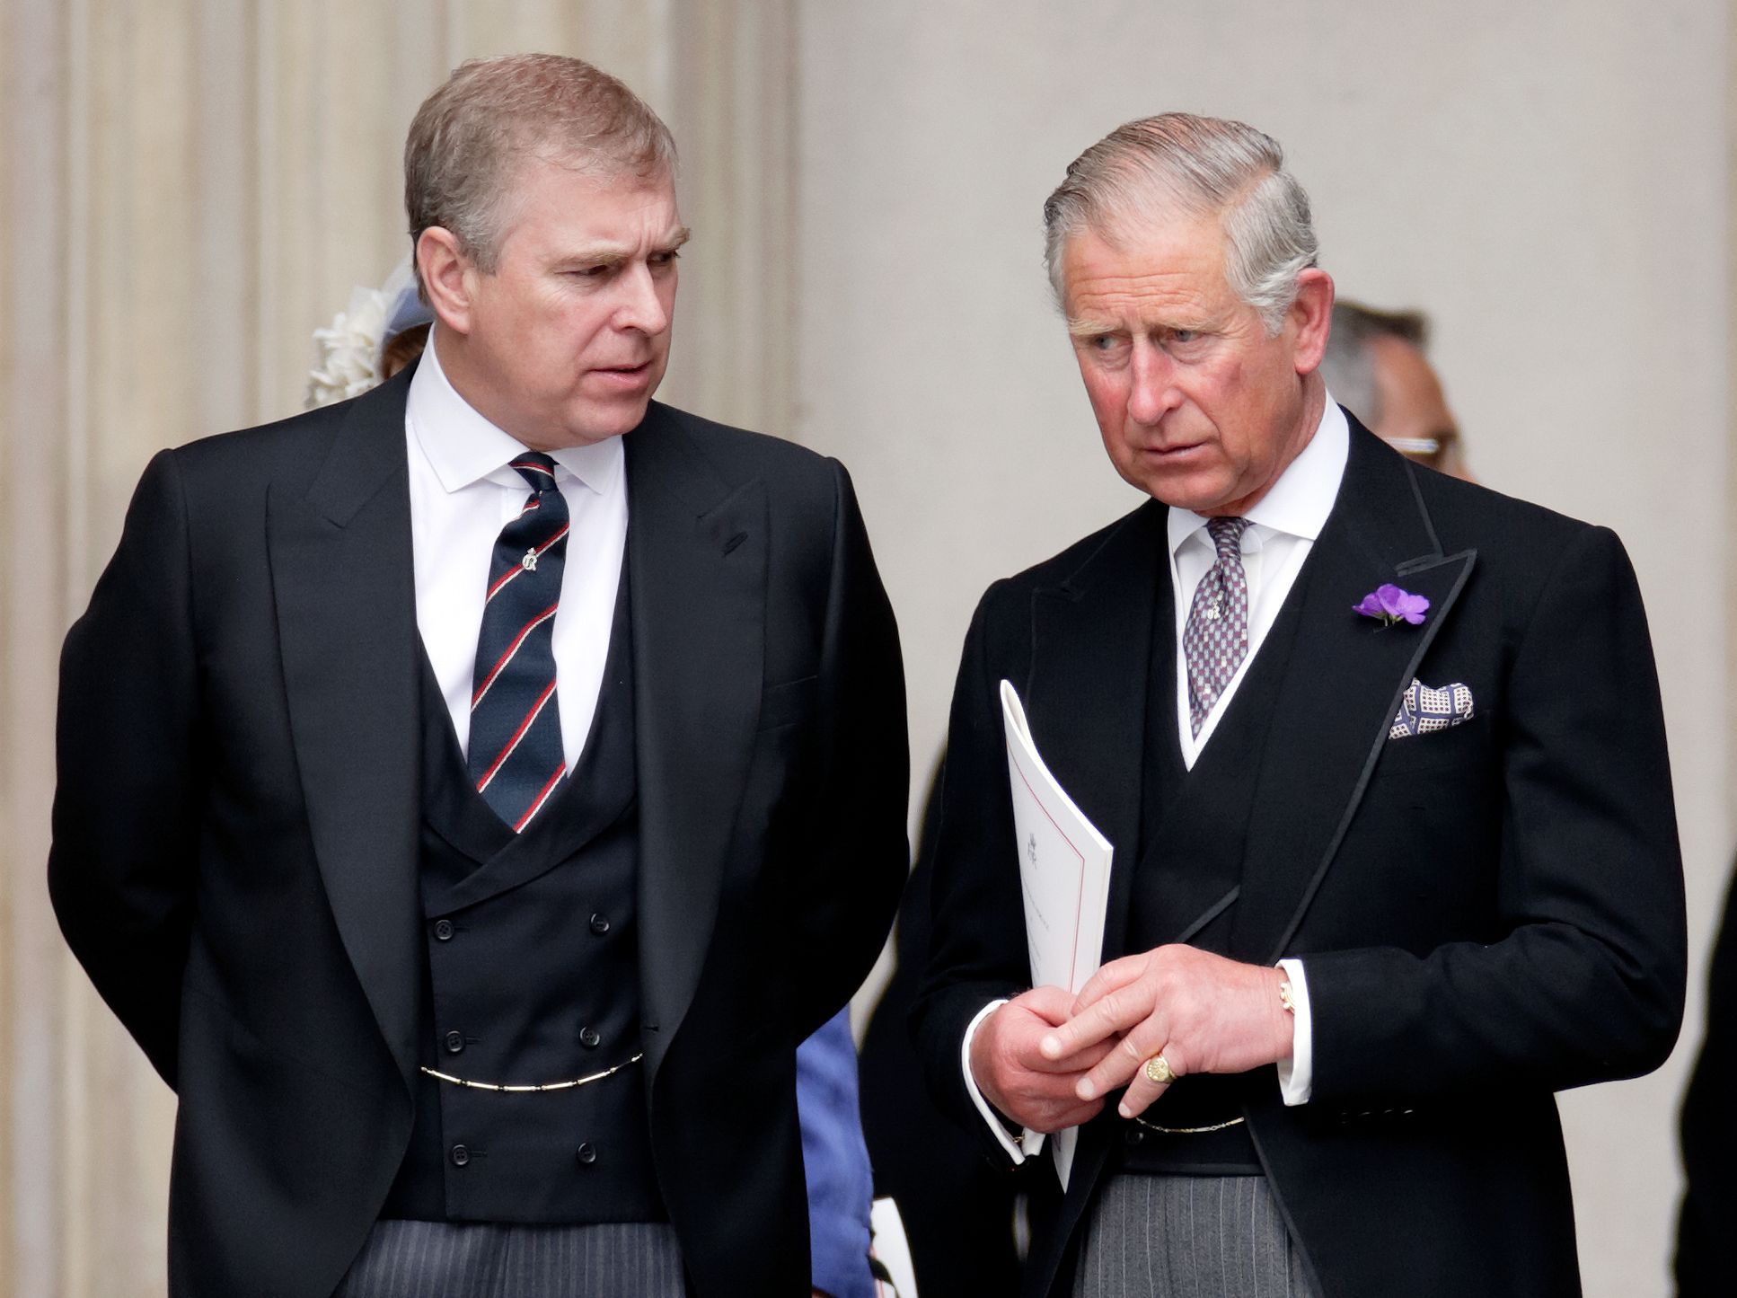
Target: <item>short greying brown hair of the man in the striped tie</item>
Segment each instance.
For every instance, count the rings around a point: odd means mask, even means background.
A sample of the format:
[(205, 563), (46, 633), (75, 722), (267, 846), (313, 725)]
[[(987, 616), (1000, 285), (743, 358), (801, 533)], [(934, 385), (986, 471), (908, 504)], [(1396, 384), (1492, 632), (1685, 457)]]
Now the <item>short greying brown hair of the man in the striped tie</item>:
[[(441, 226), (493, 275), (516, 219), (511, 181), (528, 158), (655, 179), (674, 172), (676, 141), (639, 96), (582, 59), (471, 59), (422, 101), (405, 139), (412, 247)], [(420, 268), (417, 288), (426, 301)]]

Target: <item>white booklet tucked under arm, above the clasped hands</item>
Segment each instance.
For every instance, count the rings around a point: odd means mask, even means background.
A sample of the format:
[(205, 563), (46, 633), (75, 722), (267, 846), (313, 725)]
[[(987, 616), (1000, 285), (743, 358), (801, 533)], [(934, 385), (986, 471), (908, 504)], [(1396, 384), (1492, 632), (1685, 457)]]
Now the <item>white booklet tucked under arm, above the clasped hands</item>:
[[(1032, 742), (1025, 707), (1009, 681), (1001, 683), (1007, 732), (1007, 782), (1013, 785), (1013, 829), (1020, 844), (1020, 890), (1025, 897), (1025, 944), (1034, 987), (1079, 992), (1098, 970), (1103, 921), (1110, 904), (1110, 839), (1098, 832), (1049, 773)], [(1073, 1166), (1077, 1128), (1056, 1133), (1051, 1152), (1063, 1189)], [(1025, 1131), (1023, 1149), (1037, 1152), (1040, 1131)]]

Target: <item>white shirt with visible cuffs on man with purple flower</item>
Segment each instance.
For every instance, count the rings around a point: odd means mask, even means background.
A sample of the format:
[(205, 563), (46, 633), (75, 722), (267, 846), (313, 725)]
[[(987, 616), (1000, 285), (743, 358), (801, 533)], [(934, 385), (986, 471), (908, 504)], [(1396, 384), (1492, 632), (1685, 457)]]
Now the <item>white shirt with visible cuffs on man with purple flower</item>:
[[(1218, 719), (1235, 697), (1237, 686), (1242, 685), (1242, 678), (1247, 674), (1249, 664), (1254, 662), (1254, 655), (1261, 652), (1266, 632), (1278, 620), (1278, 610), (1284, 606), (1285, 596), (1291, 594), (1303, 561), (1315, 547), (1315, 539), (1320, 537), (1320, 530), (1327, 523), (1327, 514), (1332, 513), (1332, 502), (1339, 497), (1339, 483), (1344, 480), (1344, 460), (1350, 448), (1351, 429), (1344, 422), (1344, 412), (1332, 400), (1332, 394), (1327, 394), (1320, 424), (1315, 426), (1315, 436), (1285, 466), (1285, 471), (1278, 474), (1278, 481), (1271, 485), (1266, 495), (1244, 514), (1251, 523), (1242, 533), (1242, 572), (1249, 584), (1249, 652), (1237, 667), (1237, 674), (1230, 678), (1230, 685), (1225, 686), (1218, 702), (1212, 704), (1212, 711), (1200, 723), (1199, 735), (1193, 733), (1188, 709), (1188, 659), (1181, 652), (1181, 643), (1195, 587), (1200, 586), (1218, 554), (1205, 530), (1205, 514), (1195, 514), (1188, 509), (1171, 509), (1169, 561), (1171, 591), (1176, 598), (1174, 626), (1178, 646), (1176, 730), (1181, 738), (1183, 763), (1188, 770), (1193, 770), (1202, 749), (1212, 738), (1212, 732), (1218, 730)], [(1278, 1086), (1287, 1105), (1299, 1105), (1308, 1103), (1315, 1077), (1315, 1034), (1308, 1004), (1308, 978), (1303, 973), (1301, 961), (1284, 959), (1278, 964), (1291, 980), (1291, 990), (1296, 997), (1291, 1058), (1278, 1063)], [(999, 1004), (1004, 1004), (1004, 1001), (992, 1001), (971, 1020), (961, 1046), (961, 1063), (966, 1070), (966, 1089), (971, 1093), (978, 1112), (983, 1114), (990, 1131), (995, 1133), (995, 1138), (1013, 1161), (1023, 1162), (1025, 1156), (1021, 1149), (1013, 1143), (1002, 1124), (995, 1119), (995, 1112), (971, 1076), (971, 1037), (976, 1036), (978, 1025)]]

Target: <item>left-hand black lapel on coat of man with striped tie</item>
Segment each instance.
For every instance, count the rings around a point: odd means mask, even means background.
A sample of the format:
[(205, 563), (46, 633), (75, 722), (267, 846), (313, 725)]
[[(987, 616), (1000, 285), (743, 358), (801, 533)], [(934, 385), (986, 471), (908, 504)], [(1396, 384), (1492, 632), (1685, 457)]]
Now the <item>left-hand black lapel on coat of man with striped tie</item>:
[(273, 485), (267, 551), (314, 857), (408, 1086), (415, 1067), (419, 681), (408, 372), (349, 407), (306, 493)]

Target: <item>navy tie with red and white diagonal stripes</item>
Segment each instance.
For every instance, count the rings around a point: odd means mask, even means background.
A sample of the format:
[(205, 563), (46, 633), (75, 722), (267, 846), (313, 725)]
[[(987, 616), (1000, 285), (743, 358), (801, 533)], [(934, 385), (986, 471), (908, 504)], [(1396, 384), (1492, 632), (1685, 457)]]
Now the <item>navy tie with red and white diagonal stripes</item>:
[(466, 765), (483, 801), (518, 832), (566, 775), (554, 695), (554, 615), (568, 518), (552, 459), (525, 452), (512, 467), (532, 495), (500, 528), (488, 565)]

